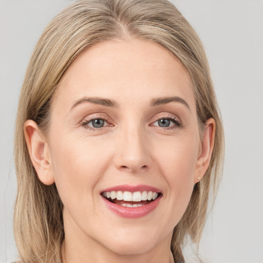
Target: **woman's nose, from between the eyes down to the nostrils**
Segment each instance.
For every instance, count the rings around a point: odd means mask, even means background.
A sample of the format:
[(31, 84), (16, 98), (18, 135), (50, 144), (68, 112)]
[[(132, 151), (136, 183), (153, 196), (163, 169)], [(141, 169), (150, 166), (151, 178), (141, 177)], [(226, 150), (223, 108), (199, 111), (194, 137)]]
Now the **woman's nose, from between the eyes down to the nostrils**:
[(151, 167), (151, 143), (141, 128), (125, 129), (117, 143), (114, 162), (118, 170), (135, 174)]

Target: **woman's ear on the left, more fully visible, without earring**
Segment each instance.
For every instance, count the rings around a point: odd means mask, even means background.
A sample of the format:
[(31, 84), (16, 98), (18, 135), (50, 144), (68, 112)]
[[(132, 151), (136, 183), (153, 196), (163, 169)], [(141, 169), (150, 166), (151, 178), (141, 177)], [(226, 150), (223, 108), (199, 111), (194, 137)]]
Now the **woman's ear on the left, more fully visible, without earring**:
[(46, 185), (54, 183), (50, 149), (39, 127), (34, 121), (27, 120), (24, 134), (31, 162), (40, 181)]

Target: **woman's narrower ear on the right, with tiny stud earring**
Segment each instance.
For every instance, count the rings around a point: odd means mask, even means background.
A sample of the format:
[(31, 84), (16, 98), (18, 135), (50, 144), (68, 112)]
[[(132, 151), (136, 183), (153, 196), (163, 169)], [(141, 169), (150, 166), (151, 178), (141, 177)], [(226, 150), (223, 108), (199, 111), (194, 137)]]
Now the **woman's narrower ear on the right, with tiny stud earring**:
[(215, 131), (215, 120), (210, 118), (206, 121), (203, 139), (200, 143), (194, 183), (200, 181), (203, 178), (206, 170), (208, 170), (215, 143)]

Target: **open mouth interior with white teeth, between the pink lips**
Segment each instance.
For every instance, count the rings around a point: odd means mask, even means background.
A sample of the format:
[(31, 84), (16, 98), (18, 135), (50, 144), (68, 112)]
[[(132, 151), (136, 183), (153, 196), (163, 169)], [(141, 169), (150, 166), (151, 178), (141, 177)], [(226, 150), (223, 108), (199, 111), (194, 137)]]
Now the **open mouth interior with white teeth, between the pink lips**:
[(162, 194), (152, 191), (110, 191), (102, 192), (101, 195), (111, 203), (127, 208), (136, 208), (153, 202), (161, 197)]

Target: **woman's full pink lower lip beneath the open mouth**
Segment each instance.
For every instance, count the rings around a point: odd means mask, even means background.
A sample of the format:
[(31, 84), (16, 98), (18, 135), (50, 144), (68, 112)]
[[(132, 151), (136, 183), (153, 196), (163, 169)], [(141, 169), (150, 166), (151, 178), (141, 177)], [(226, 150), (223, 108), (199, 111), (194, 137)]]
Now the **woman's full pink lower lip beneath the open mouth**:
[(139, 218), (139, 217), (146, 216), (147, 214), (153, 212), (157, 208), (157, 205), (160, 202), (161, 196), (156, 198), (154, 201), (148, 204), (137, 206), (135, 208), (127, 208), (125, 206), (112, 203), (108, 201), (107, 199), (105, 199), (104, 197), (102, 197), (102, 199), (105, 202), (108, 209), (114, 212), (115, 214), (121, 217), (124, 217), (124, 218)]

